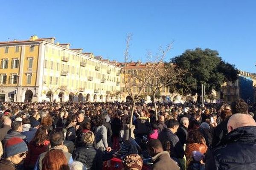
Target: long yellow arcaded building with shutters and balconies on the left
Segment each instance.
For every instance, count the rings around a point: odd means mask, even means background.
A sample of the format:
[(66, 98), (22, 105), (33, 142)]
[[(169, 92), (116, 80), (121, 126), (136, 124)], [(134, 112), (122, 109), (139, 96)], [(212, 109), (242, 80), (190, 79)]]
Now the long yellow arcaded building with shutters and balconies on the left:
[(55, 38), (0, 42), (0, 59), (4, 101), (118, 100), (109, 94), (120, 92), (121, 68)]

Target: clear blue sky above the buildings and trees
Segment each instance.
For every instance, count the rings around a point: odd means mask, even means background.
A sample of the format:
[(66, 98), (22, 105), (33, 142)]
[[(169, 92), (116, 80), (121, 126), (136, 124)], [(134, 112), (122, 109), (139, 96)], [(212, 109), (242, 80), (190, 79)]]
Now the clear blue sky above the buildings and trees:
[(55, 37), (123, 61), (133, 34), (133, 61), (173, 42), (165, 60), (196, 47), (217, 50), (237, 68), (256, 72), (255, 0), (0, 0), (0, 41)]

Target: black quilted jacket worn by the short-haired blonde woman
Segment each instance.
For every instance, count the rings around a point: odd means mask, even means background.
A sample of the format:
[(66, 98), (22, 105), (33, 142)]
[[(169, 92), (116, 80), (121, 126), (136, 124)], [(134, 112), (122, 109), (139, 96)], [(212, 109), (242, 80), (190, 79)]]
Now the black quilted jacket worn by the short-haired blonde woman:
[(84, 144), (73, 154), (73, 159), (90, 167), (91, 170), (102, 170), (102, 155), (94, 149), (92, 144)]

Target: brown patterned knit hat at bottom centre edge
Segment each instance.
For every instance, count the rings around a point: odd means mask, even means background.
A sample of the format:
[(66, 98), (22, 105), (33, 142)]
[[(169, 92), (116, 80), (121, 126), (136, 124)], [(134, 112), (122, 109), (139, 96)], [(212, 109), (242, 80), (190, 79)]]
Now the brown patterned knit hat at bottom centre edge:
[(123, 158), (124, 170), (142, 170), (143, 160), (140, 155), (131, 154)]

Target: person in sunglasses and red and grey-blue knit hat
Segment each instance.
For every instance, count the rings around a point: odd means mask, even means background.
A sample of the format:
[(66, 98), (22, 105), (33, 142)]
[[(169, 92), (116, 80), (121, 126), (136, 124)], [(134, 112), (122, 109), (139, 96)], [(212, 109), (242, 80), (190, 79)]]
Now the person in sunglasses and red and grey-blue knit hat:
[(0, 161), (0, 170), (16, 170), (28, 152), (26, 143), (20, 138), (8, 139), (4, 145), (3, 159)]

